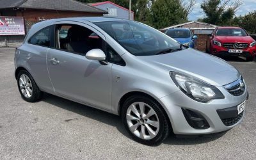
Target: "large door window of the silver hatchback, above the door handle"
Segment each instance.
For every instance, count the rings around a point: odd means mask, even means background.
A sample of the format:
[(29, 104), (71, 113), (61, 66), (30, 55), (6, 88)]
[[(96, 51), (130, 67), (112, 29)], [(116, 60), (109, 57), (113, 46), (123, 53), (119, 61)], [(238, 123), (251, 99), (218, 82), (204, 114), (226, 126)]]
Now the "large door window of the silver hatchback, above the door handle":
[(86, 54), (91, 49), (102, 49), (103, 40), (88, 28), (75, 24), (60, 24), (56, 28), (57, 49)]

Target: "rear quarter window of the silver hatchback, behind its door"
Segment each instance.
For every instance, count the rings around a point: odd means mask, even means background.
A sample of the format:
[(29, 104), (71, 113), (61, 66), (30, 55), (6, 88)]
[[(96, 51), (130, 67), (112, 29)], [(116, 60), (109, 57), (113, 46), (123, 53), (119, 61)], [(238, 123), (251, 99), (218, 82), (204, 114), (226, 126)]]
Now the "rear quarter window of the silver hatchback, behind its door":
[(38, 31), (37, 33), (35, 33), (35, 35), (33, 35), (28, 43), (29, 44), (34, 44), (34, 45), (42, 45), (44, 47), (50, 47), (50, 33), (51, 33), (51, 28), (47, 27), (44, 28), (40, 31)]

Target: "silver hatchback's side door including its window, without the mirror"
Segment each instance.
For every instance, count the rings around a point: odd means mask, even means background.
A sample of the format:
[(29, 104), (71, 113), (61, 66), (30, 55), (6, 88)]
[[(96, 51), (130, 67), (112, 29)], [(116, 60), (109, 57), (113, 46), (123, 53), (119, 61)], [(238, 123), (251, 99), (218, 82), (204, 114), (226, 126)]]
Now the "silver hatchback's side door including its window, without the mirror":
[(47, 54), (47, 67), (56, 94), (111, 111), (111, 63), (85, 57), (90, 49), (102, 49), (104, 36), (77, 24), (56, 25), (56, 49)]

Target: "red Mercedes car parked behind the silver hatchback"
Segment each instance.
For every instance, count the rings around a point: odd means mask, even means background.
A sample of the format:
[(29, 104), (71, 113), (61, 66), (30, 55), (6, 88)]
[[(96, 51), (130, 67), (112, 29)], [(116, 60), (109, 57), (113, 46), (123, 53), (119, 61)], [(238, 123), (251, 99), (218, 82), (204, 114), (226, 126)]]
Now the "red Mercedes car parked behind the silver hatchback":
[(253, 61), (256, 42), (248, 33), (238, 27), (218, 27), (208, 35), (206, 52), (216, 56), (244, 56)]

